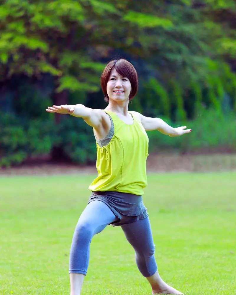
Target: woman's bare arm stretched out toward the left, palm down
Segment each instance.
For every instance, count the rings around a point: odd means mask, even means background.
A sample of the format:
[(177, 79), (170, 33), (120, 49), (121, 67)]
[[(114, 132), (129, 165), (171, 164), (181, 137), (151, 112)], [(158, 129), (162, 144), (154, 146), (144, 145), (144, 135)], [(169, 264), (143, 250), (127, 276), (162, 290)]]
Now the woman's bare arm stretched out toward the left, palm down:
[[(70, 114), (75, 117), (83, 118), (84, 121), (95, 130), (100, 129), (104, 126), (105, 112), (101, 109), (91, 109), (87, 108), (83, 104), (67, 105), (62, 104), (60, 106), (53, 105), (46, 109), (48, 113), (58, 113), (58, 114)], [(105, 119), (106, 121), (106, 119)]]

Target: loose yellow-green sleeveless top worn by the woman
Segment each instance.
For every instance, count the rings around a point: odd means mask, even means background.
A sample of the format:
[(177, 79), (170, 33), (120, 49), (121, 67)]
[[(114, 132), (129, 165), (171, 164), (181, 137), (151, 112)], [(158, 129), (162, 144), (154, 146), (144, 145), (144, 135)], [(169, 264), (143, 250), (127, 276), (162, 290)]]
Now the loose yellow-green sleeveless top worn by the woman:
[(113, 120), (114, 135), (108, 145), (97, 147), (98, 176), (89, 186), (91, 191), (119, 191), (143, 194), (147, 186), (146, 160), (148, 135), (138, 118), (133, 124), (124, 123), (116, 114), (105, 111)]

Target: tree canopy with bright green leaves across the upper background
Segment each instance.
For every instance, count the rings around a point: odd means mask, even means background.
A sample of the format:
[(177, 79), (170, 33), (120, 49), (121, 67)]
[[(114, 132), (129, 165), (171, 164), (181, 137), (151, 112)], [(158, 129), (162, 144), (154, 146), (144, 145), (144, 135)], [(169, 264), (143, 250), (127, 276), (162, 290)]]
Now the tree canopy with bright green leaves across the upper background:
[(116, 50), (141, 73), (140, 112), (185, 120), (202, 102), (219, 109), (225, 92), (236, 109), (234, 16), (233, 0), (2, 1), (0, 81), (50, 73), (53, 103), (66, 104), (68, 91), (98, 91)]

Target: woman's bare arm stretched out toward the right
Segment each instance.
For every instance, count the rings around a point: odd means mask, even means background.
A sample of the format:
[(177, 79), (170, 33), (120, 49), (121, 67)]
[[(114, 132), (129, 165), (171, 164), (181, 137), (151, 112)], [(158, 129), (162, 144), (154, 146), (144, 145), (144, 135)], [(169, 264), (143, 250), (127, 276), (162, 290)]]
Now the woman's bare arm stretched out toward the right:
[(186, 133), (190, 133), (192, 131), (191, 129), (186, 129), (187, 126), (173, 128), (160, 118), (145, 117), (138, 112), (132, 113), (140, 119), (140, 122), (142, 123), (146, 131), (158, 130), (161, 133), (169, 135), (171, 137), (180, 136)]

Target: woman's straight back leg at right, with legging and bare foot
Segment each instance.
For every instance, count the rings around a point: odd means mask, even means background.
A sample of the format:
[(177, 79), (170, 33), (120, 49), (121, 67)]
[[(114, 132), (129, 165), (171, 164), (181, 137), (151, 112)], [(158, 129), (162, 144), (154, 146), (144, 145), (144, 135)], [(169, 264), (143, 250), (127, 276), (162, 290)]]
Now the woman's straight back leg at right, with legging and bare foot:
[(121, 227), (128, 242), (135, 250), (138, 269), (147, 278), (153, 294), (183, 294), (167, 285), (158, 273), (149, 218), (146, 217), (137, 222), (123, 224)]

